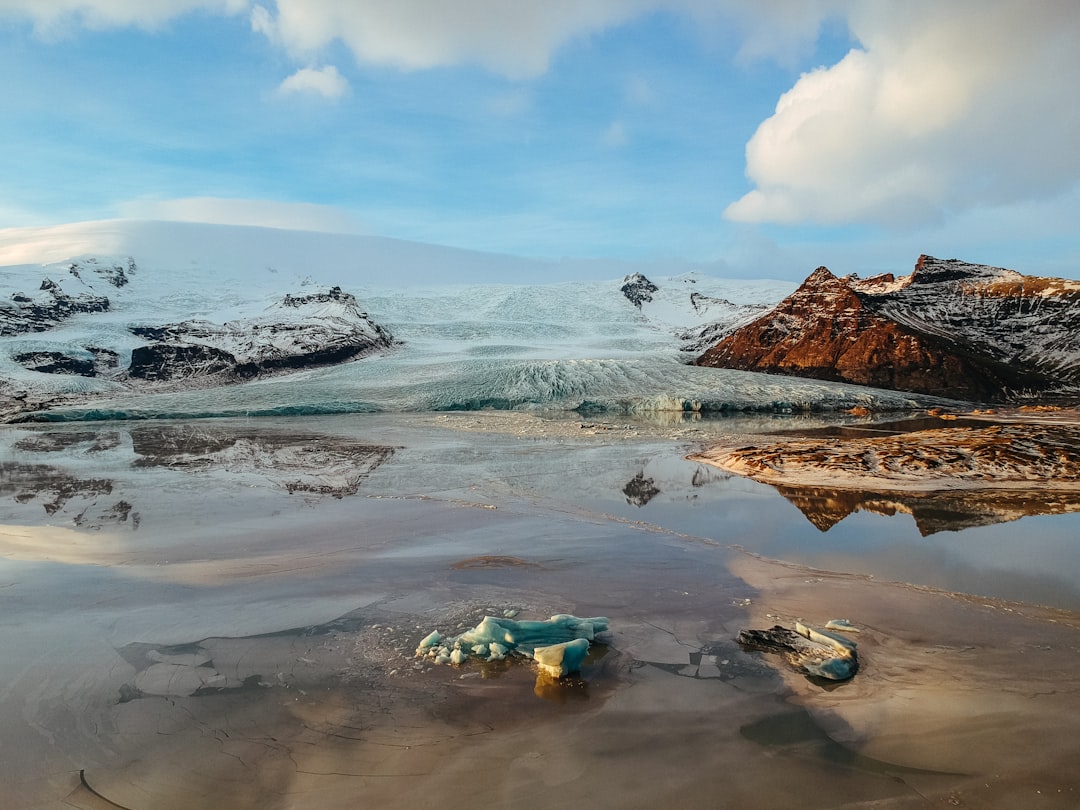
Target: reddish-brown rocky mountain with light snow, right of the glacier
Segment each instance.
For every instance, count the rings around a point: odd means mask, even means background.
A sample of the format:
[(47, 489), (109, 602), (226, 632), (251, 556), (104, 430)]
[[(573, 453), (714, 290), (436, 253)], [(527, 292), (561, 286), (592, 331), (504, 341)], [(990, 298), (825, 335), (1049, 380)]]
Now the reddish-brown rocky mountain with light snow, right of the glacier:
[(820, 267), (698, 365), (961, 400), (1080, 391), (1080, 282), (920, 256), (910, 275)]

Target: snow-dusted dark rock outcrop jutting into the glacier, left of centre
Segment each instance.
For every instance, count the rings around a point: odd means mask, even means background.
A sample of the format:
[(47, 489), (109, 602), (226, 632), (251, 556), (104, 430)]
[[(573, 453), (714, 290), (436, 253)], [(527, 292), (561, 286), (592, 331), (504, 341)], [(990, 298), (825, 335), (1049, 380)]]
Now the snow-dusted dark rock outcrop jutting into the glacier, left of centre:
[(176, 381), (216, 377), (242, 380), (274, 372), (341, 363), (389, 348), (390, 334), (361, 312), (340, 287), (286, 295), (257, 319), (213, 324), (186, 321), (135, 326), (151, 341), (132, 351), (133, 379)]

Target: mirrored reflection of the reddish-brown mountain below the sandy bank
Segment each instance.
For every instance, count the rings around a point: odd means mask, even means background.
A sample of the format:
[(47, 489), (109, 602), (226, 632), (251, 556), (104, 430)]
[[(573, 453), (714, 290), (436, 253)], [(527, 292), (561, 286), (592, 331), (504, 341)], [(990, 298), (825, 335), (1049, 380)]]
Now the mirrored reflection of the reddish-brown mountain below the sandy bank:
[(1047, 490), (936, 490), (875, 492), (828, 487), (775, 485), (807, 519), (828, 531), (852, 512), (892, 516), (909, 514), (923, 537), (1032, 515), (1080, 512), (1080, 492)]

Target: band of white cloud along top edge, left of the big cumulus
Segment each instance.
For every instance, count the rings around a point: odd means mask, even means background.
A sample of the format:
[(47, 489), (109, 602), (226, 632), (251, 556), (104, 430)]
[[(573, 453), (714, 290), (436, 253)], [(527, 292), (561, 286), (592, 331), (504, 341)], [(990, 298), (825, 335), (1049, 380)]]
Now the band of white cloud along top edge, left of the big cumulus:
[(253, 30), (310, 62), (336, 41), (357, 62), (407, 70), (480, 65), (527, 79), (565, 43), (653, 12), (690, 14), (705, 28), (738, 27), (743, 55), (783, 57), (812, 44), (821, 19), (851, 0), (0, 0), (39, 32), (78, 27), (158, 28), (205, 11), (248, 12)]

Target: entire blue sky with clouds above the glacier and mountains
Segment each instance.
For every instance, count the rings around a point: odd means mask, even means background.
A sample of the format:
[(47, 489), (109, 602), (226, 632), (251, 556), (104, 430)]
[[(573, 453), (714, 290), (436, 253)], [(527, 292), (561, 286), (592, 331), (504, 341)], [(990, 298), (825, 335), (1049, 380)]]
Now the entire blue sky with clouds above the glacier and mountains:
[(0, 0), (0, 228), (1080, 278), (1075, 0)]

